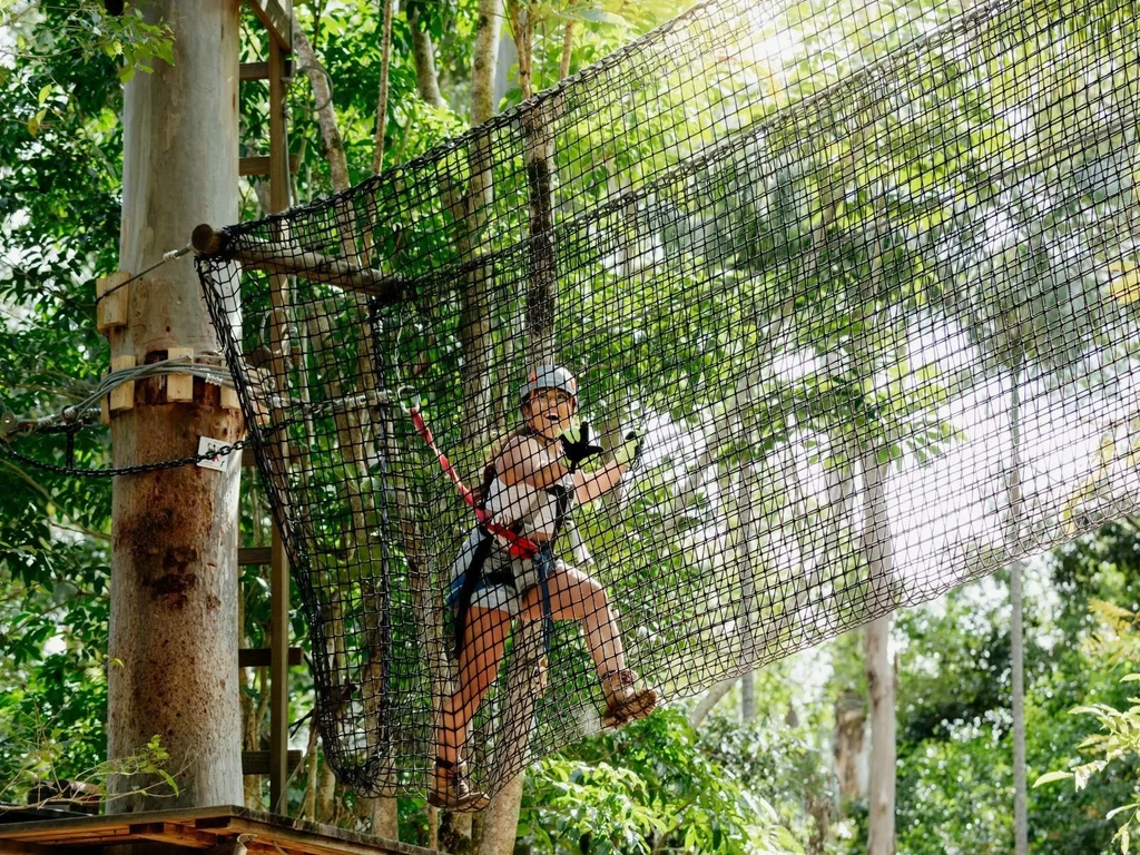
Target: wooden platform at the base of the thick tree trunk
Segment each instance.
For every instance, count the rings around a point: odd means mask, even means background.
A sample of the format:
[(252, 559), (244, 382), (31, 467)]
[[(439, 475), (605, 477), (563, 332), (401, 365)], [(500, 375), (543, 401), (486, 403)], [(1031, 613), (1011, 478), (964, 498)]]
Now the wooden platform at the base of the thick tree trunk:
[(0, 853), (14, 855), (99, 853), (132, 842), (207, 849), (239, 836), (249, 855), (435, 855), (418, 846), (231, 805), (34, 822), (6, 822), (0, 813)]

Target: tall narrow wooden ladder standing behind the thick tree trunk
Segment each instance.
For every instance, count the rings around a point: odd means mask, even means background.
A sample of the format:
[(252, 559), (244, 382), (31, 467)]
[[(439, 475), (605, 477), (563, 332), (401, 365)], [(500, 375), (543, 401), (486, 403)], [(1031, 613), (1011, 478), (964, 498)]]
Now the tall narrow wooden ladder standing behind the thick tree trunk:
[[(241, 157), (242, 176), (269, 176), (269, 212), (288, 207), (290, 163), (285, 129), (285, 82), (292, 75), (293, 50), (292, 0), (246, 0), (258, 19), (269, 33), (269, 62), (242, 63), (241, 80), (269, 81), (269, 156)], [(283, 280), (272, 279), (274, 302), (279, 303)], [(279, 339), (278, 339), (279, 341)], [(254, 466), (252, 449), (242, 456), (243, 466)], [(238, 651), (238, 667), (269, 668), (269, 750), (243, 751), (242, 773), (269, 775), (269, 809), (282, 809), (285, 782), (290, 772), (301, 762), (300, 751), (288, 750), (288, 667), (301, 663), (300, 648), (288, 646), (290, 576), (288, 560), (282, 544), (280, 531), (272, 527), (269, 546), (243, 547), (237, 551), (241, 567), (269, 567), (269, 646), (243, 648)]]

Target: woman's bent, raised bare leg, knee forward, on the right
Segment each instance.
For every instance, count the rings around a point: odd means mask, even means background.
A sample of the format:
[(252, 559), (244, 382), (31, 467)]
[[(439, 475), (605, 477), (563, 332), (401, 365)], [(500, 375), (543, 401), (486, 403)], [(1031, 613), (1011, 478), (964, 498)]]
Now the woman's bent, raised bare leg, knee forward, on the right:
[[(546, 578), (551, 595), (551, 614), (555, 620), (580, 620), (586, 646), (594, 659), (598, 677), (622, 670), (626, 654), (621, 646), (618, 621), (610, 609), (605, 589), (592, 577), (575, 568), (559, 564)], [(535, 586), (523, 601), (522, 617), (543, 617), (542, 586)]]

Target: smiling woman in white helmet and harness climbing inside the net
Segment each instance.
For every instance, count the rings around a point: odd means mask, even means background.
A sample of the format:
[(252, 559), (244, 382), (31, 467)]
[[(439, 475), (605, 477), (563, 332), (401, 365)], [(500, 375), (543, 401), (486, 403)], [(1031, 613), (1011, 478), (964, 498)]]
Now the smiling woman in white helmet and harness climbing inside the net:
[(617, 487), (641, 442), (627, 438), (609, 463), (579, 470), (583, 459), (602, 449), (576, 424), (578, 384), (565, 368), (535, 370), (520, 404), (523, 426), (499, 441), (484, 471), (484, 522), (472, 530), (451, 568), (448, 605), (456, 616), (459, 673), (455, 694), (442, 705), (429, 783), (429, 800), (451, 809), (479, 811), (489, 801), (471, 788), (459, 755), (515, 618), (581, 624), (605, 697), (604, 726), (648, 716), (658, 702), (657, 692), (640, 686), (626, 667), (605, 591), (554, 554), (570, 508)]

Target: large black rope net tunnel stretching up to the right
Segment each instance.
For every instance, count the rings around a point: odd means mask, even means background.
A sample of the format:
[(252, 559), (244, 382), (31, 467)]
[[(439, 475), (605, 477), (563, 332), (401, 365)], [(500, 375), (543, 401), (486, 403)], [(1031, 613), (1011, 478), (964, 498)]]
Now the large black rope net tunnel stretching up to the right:
[(701, 5), (198, 256), (345, 784), (492, 793), (1135, 508), (1131, 0), (803, 9)]

